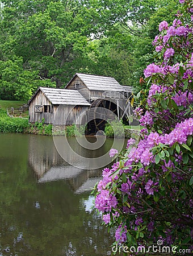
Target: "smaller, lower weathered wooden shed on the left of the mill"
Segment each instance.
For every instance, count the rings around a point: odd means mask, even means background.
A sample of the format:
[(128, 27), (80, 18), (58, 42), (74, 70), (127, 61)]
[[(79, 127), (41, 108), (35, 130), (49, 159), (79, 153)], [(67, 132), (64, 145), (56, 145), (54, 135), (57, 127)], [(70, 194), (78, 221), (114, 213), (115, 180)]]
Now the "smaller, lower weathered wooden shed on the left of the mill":
[(90, 107), (90, 103), (78, 92), (78, 90), (65, 90), (56, 88), (40, 87), (32, 96), (29, 105), (30, 123), (41, 122), (44, 119), (45, 123), (53, 123), (54, 115), (56, 115), (58, 106), (61, 105), (62, 113), (58, 113), (58, 118), (72, 110), (73, 115), (68, 118), (65, 125), (75, 123), (78, 115)]

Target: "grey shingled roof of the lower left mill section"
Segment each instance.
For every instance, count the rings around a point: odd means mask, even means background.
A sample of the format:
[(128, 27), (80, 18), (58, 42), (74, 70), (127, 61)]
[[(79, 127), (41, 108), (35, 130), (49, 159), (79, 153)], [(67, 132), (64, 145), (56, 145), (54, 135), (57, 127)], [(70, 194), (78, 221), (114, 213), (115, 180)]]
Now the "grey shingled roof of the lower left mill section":
[[(39, 87), (37, 89), (37, 92), (39, 90), (41, 90), (41, 92), (45, 94), (45, 97), (47, 97), (52, 104), (90, 106), (90, 103), (85, 100), (85, 98), (81, 95), (81, 93), (78, 92), (78, 90), (65, 90), (47, 87)], [(33, 95), (33, 97), (35, 96), (35, 94)], [(30, 104), (33, 97), (30, 99), (28, 104)]]

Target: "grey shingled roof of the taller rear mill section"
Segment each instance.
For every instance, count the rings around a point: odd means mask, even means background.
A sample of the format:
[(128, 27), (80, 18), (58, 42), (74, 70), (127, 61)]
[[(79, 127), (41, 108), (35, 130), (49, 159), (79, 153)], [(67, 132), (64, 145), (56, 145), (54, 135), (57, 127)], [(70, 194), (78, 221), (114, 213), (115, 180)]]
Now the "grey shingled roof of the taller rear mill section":
[[(89, 75), (83, 73), (76, 73), (74, 77), (75, 76), (78, 76), (89, 90), (131, 92), (132, 89), (131, 86), (120, 85), (119, 82), (114, 79), (114, 77)], [(72, 82), (72, 80), (70, 80), (70, 82)], [(70, 82), (66, 85), (66, 87), (70, 84)]]

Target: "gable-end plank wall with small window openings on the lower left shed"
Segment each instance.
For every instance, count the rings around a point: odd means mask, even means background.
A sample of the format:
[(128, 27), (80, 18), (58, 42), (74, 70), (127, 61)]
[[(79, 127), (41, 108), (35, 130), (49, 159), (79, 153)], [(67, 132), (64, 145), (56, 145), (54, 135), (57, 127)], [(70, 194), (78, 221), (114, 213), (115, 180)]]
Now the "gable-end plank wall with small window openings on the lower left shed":
[[(42, 106), (42, 112), (35, 112), (36, 106)], [(50, 113), (44, 113), (44, 106), (50, 106)], [(45, 123), (52, 123), (53, 121), (53, 105), (41, 90), (37, 92), (36, 96), (30, 102), (29, 116), (30, 123), (41, 122), (43, 118), (45, 119)]]

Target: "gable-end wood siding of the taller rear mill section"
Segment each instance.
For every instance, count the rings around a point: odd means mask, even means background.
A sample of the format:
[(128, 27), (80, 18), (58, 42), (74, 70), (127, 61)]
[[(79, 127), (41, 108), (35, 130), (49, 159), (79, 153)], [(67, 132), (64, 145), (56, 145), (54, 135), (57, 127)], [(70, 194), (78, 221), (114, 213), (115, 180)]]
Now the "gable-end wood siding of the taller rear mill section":
[[(79, 85), (76, 86), (77, 84)], [(90, 100), (90, 90), (78, 77), (74, 77), (72, 82), (70, 82), (70, 84), (65, 89), (78, 90), (79, 93), (81, 93), (82, 96), (86, 98), (86, 100)]]

